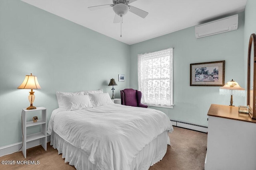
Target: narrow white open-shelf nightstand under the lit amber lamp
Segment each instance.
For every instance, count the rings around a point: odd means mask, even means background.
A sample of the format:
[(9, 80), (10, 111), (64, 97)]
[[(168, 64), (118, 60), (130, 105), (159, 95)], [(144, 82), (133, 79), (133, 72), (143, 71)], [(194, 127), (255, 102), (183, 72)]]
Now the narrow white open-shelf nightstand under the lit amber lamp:
[[(27, 117), (29, 117), (29, 113), (32, 113), (33, 111), (41, 111), (41, 119), (39, 119), (37, 122), (33, 121), (26, 121)], [(31, 116), (32, 120), (32, 116)], [(45, 107), (37, 107), (36, 109), (22, 109), (22, 133), (23, 133), (23, 146), (22, 146), (22, 152), (24, 157), (26, 158), (26, 149), (27, 149), (27, 143), (30, 141), (34, 141), (36, 139), (41, 140), (41, 145), (44, 148), (44, 150), (47, 149), (47, 133), (46, 133), (46, 108)], [(31, 135), (27, 135), (27, 127), (32, 127), (36, 125), (41, 125), (41, 132), (39, 133), (33, 133)]]

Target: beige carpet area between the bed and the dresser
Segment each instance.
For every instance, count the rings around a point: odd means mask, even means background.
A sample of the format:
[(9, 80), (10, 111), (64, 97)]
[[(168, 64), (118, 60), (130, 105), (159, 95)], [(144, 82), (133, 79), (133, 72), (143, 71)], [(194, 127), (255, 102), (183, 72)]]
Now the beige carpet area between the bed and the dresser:
[(168, 145), (164, 158), (150, 170), (204, 170), (206, 133), (174, 127), (169, 136), (171, 146)]

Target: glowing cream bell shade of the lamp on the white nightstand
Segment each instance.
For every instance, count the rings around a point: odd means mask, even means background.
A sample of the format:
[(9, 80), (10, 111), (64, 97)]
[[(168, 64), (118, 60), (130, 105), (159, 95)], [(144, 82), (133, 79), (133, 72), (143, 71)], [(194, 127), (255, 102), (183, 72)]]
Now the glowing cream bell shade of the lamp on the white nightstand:
[(30, 75), (26, 75), (24, 81), (20, 86), (18, 86), (20, 89), (41, 89), (37, 77)]

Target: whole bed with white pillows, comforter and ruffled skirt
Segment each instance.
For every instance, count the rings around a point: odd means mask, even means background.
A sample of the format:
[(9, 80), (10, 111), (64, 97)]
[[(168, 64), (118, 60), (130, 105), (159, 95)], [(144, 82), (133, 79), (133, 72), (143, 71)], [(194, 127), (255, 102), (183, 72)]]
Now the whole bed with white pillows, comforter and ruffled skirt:
[(161, 111), (114, 104), (108, 93), (57, 99), (47, 130), (50, 145), (78, 170), (146, 170), (170, 145), (172, 124)]

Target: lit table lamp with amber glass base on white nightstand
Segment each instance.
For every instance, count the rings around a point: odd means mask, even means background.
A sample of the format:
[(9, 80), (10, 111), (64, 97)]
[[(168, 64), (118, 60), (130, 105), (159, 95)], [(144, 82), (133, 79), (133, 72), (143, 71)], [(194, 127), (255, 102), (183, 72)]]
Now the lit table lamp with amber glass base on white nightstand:
[(30, 106), (27, 109), (28, 110), (36, 109), (36, 107), (33, 106), (33, 103), (35, 100), (35, 95), (34, 95), (33, 89), (41, 89), (41, 87), (38, 83), (37, 77), (32, 76), (32, 74), (26, 75), (24, 81), (22, 82), (22, 84), (20, 84), (20, 86), (18, 86), (18, 88), (19, 89), (31, 89), (31, 91), (29, 92), (30, 95), (28, 96)]

